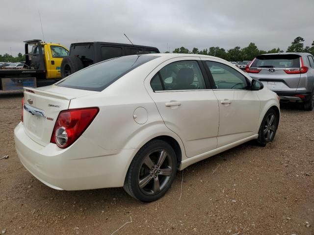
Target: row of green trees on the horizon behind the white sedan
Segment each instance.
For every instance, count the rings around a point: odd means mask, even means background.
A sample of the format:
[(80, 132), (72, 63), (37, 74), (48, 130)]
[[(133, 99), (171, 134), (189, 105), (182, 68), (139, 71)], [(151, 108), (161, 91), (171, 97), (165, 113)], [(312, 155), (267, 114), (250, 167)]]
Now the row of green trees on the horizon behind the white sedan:
[[(288, 47), (286, 52), (308, 52), (314, 55), (314, 41), (312, 47), (304, 47), (304, 39), (302, 37), (296, 37), (291, 45)], [(284, 52), (279, 47), (273, 48), (271, 50), (260, 50), (255, 43), (250, 43), (248, 47), (234, 47), (232, 49), (226, 50), (222, 47), (209, 47), (209, 49), (199, 50), (194, 47), (191, 51), (185, 47), (175, 48), (172, 53), (189, 53), (189, 54), (202, 54), (216, 56), (228, 61), (243, 61), (243, 60), (253, 60), (256, 56), (265, 53), (278, 53)], [(166, 51), (165, 53), (170, 53)]]

